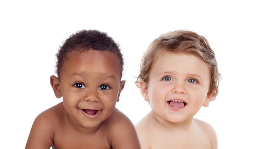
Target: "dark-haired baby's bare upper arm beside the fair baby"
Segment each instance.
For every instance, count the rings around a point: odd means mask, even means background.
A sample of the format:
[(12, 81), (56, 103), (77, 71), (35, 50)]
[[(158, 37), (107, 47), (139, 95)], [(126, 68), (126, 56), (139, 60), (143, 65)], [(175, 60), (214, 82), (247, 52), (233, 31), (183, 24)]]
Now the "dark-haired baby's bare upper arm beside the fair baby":
[(110, 144), (113, 149), (141, 149), (133, 123), (126, 116), (115, 119), (111, 127)]

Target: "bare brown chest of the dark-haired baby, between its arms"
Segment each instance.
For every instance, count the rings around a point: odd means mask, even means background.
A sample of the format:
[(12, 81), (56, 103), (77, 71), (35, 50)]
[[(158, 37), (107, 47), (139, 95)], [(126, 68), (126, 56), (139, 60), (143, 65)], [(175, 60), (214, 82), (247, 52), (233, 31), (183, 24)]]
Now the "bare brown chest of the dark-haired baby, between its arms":
[(107, 135), (78, 135), (72, 132), (56, 132), (52, 149), (112, 149)]

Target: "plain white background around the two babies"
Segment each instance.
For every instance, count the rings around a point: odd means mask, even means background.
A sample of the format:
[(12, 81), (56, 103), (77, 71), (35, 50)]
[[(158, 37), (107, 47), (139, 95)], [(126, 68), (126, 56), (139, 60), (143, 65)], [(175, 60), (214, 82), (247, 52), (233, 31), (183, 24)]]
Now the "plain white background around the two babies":
[(54, 74), (58, 46), (80, 29), (108, 32), (120, 44), (127, 82), (116, 107), (134, 124), (150, 111), (134, 77), (151, 41), (175, 29), (206, 37), (222, 80), (216, 100), (195, 117), (215, 128), (219, 149), (256, 149), (253, 3), (91, 1), (0, 2), (1, 149), (24, 148), (35, 117), (61, 102), (49, 77)]

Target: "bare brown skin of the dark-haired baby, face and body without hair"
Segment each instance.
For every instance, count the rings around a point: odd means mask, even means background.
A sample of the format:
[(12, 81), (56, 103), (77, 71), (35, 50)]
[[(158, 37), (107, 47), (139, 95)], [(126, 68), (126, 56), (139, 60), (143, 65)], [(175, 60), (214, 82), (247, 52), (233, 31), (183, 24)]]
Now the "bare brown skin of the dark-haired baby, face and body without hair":
[[(63, 102), (35, 119), (25, 149), (140, 149), (131, 120), (115, 108), (125, 86), (116, 54), (70, 52), (52, 89)], [(83, 109), (99, 111), (95, 118)]]

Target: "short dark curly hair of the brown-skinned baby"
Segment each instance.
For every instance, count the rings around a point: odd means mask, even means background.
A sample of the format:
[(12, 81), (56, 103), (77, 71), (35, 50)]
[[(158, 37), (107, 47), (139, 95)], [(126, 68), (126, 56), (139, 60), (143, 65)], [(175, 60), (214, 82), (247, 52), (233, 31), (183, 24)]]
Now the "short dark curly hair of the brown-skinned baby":
[(119, 49), (119, 44), (109, 37), (107, 33), (100, 32), (98, 30), (77, 31), (75, 34), (72, 34), (67, 40), (65, 40), (63, 45), (59, 47), (56, 54), (57, 61), (55, 72), (59, 75), (64, 63), (64, 59), (69, 52), (84, 52), (90, 49), (108, 51), (117, 54), (117, 56), (120, 58), (122, 77), (124, 60)]

